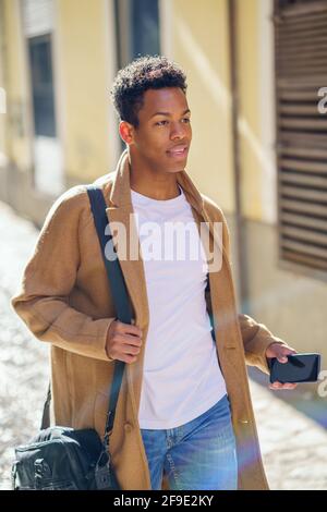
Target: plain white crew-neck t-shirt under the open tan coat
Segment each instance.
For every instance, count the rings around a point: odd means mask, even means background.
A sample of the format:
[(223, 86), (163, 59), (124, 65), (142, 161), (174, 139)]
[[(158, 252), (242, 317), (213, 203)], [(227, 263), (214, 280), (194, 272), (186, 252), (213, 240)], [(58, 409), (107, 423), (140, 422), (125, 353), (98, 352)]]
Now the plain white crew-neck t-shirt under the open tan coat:
[[(131, 190), (149, 306), (141, 428), (181, 426), (227, 392), (206, 308), (207, 261), (191, 206), (180, 192), (157, 200)], [(172, 222), (183, 230), (175, 236)]]

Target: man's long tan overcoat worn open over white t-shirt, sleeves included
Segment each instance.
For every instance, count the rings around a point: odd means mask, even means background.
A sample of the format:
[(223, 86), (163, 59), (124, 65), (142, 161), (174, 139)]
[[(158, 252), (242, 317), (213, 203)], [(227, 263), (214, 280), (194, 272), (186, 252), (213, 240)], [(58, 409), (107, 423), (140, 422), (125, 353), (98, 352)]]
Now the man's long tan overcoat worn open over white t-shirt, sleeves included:
[[(223, 214), (197, 191), (186, 171), (177, 176), (194, 219), (207, 222), (210, 236), (213, 222), (223, 222), (222, 267), (209, 272), (206, 302), (214, 314), (217, 355), (231, 402), (239, 488), (267, 489), (245, 362), (268, 373), (266, 348), (281, 340), (264, 325), (238, 314)], [(108, 220), (122, 222), (128, 232), (135, 230), (130, 221), (133, 207), (126, 151), (116, 171), (95, 183), (102, 187)], [(149, 310), (142, 259), (122, 260), (121, 267), (135, 324), (143, 330), (143, 345), (137, 362), (125, 366), (110, 452), (121, 488), (143, 490), (150, 489), (150, 479), (137, 412)], [(68, 190), (53, 203), (11, 304), (38, 340), (51, 343), (53, 422), (95, 428), (102, 435), (114, 367), (106, 353), (106, 339), (116, 310), (84, 185)], [(165, 477), (162, 486), (168, 488)]]

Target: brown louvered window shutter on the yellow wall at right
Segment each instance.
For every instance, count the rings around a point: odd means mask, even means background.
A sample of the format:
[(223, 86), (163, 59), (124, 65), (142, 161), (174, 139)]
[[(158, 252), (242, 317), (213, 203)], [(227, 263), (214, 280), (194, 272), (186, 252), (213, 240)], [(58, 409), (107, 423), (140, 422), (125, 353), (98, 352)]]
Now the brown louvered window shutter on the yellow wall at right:
[(327, 2), (275, 0), (274, 19), (280, 258), (327, 276)]

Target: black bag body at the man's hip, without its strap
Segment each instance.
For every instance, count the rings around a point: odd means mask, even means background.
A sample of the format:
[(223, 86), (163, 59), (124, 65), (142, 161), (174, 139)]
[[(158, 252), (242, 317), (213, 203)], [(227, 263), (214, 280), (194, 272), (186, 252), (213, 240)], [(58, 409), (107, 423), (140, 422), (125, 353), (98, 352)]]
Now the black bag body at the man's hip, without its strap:
[(49, 427), (15, 448), (14, 490), (119, 489), (96, 430)]

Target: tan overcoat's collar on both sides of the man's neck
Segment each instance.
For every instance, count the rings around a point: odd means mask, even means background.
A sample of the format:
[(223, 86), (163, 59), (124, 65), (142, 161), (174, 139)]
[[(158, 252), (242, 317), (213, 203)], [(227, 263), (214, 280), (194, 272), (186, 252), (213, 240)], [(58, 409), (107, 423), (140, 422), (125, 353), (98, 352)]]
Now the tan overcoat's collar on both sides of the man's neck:
[[(109, 194), (111, 207), (126, 206), (129, 209), (131, 208), (132, 199), (130, 172), (131, 168), (129, 162), (129, 154), (125, 149), (118, 161), (113, 184)], [(191, 206), (193, 206), (198, 214), (202, 214), (204, 207), (203, 198), (189, 174), (185, 171), (179, 171), (177, 173), (177, 181), (183, 188), (186, 199)]]

